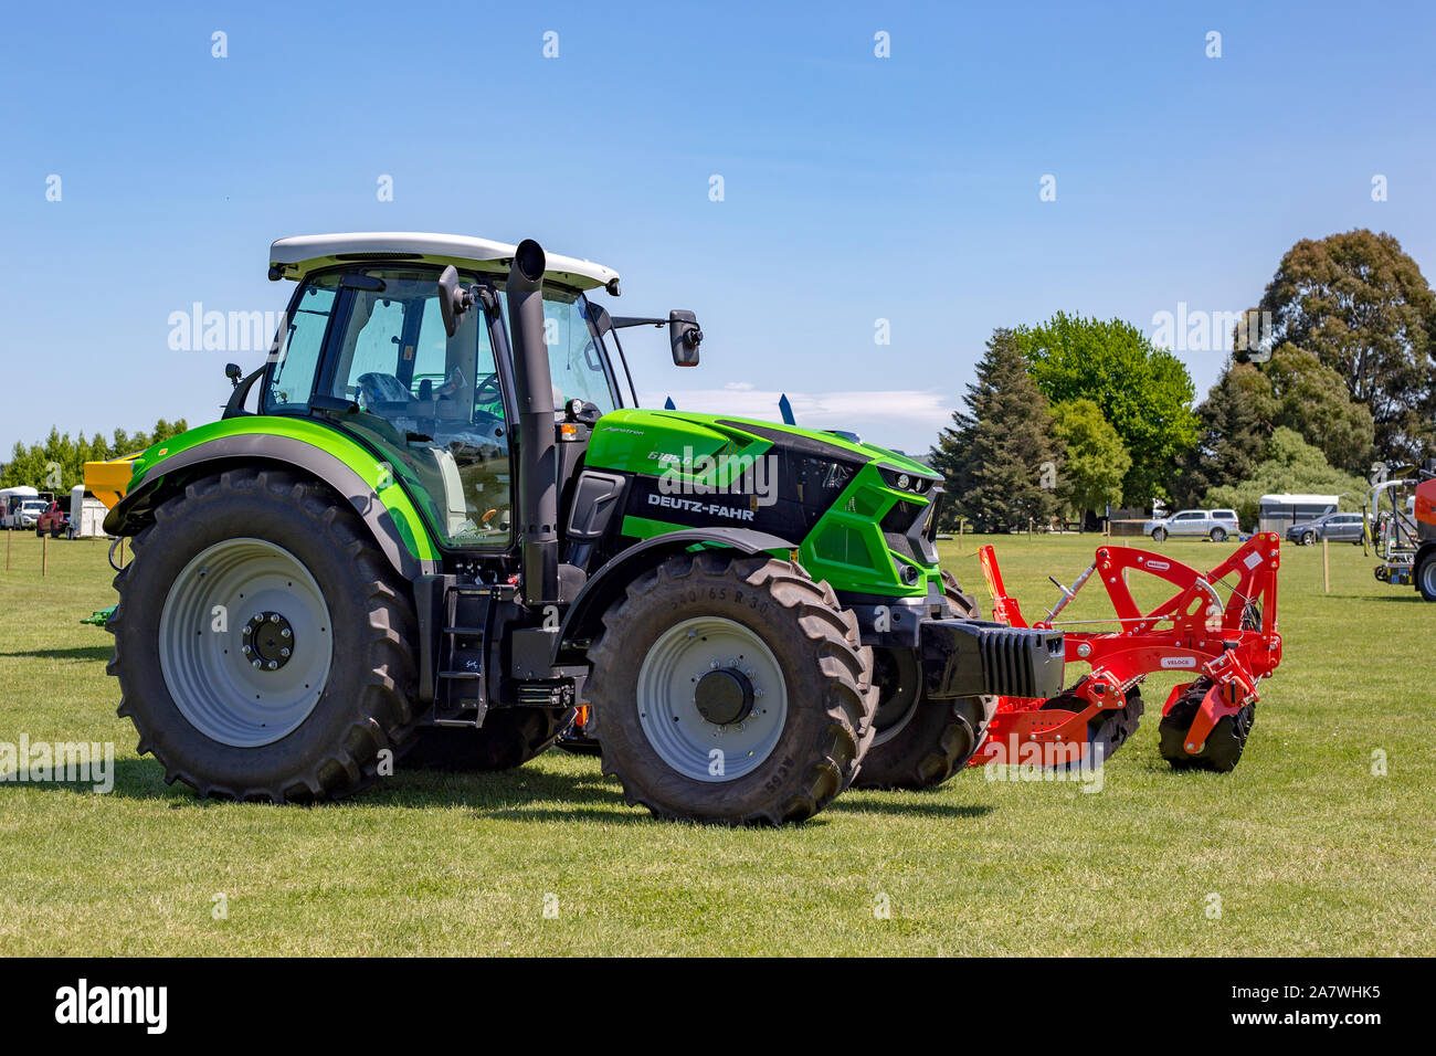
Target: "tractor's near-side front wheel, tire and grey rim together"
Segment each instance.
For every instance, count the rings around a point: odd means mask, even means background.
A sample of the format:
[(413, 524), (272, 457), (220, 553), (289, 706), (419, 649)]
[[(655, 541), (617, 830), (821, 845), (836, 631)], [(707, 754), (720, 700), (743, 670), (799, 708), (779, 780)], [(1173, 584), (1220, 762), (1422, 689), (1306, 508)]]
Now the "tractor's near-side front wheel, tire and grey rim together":
[(603, 772), (659, 818), (803, 820), (872, 740), (872, 651), (791, 562), (675, 555), (609, 608), (589, 658)]

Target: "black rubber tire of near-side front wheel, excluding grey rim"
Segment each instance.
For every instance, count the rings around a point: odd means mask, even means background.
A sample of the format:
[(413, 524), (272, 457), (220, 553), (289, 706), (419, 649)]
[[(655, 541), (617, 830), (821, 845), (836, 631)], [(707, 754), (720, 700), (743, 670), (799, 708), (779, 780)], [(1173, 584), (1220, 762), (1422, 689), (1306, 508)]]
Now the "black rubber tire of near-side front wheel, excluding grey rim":
[[(773, 747), (761, 756), (755, 751), (757, 761), (740, 757), (738, 767), (751, 769), (735, 767), (717, 780), (666, 761), (643, 726), (666, 708), (676, 714), (692, 707), (696, 715), (696, 700), (669, 695), (640, 704), (645, 672), (659, 667), (663, 642), (698, 619), (727, 621), (761, 642), (787, 687), (781, 724), (768, 720), (777, 738)], [(859, 644), (857, 621), (839, 606), (831, 588), (814, 583), (791, 562), (721, 550), (669, 557), (609, 608), (589, 657), (590, 721), (603, 750), (603, 772), (619, 779), (629, 803), (658, 818), (722, 825), (804, 820), (852, 783), (872, 740), (877, 700), (872, 651)], [(653, 708), (652, 714), (643, 707)], [(682, 728), (702, 733), (702, 721), (707, 715), (685, 718)], [(761, 721), (754, 713), (754, 724)]]

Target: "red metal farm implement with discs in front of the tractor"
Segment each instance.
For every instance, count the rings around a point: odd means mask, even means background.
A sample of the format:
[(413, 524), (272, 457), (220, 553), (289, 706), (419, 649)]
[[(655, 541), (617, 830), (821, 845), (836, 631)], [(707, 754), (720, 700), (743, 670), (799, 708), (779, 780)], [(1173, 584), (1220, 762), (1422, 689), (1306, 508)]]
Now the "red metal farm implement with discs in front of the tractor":
[[(979, 550), (992, 592), (992, 618), (1030, 626), (1007, 593), (991, 546)], [(1110, 754), (1136, 728), (1139, 687), (1155, 671), (1190, 671), (1162, 708), (1162, 754), (1175, 766), (1231, 770), (1241, 759), (1256, 705), (1256, 684), (1281, 664), (1277, 569), (1281, 540), (1252, 536), (1211, 572), (1150, 550), (1103, 546), (1057, 605), (1031, 626), (1066, 632), (1066, 661), (1090, 671), (1048, 700), (1002, 697), (987, 741), (972, 757), (985, 763), (1071, 764), (1094, 747)], [(1176, 593), (1143, 612), (1127, 586), (1130, 572), (1170, 583)], [(1057, 619), (1083, 585), (1099, 576), (1116, 615), (1103, 621)], [(1223, 601), (1225, 593), (1225, 601)], [(1114, 631), (1070, 629), (1116, 624)]]

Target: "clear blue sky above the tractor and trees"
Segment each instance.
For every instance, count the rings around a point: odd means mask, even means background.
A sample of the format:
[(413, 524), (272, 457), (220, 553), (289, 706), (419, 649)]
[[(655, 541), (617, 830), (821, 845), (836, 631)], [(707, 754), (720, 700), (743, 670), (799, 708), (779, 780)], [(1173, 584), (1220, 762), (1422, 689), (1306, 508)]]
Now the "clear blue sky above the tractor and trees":
[[(616, 313), (696, 310), (696, 371), (629, 342), (645, 402), (775, 417), (785, 391), (922, 450), (995, 326), (1236, 312), (1295, 240), (1360, 226), (1436, 272), (1433, 27), (1414, 3), (11, 6), (0, 445), (208, 421), (224, 362), (263, 356), (171, 349), (172, 312), (281, 309), (281, 236), (435, 230), (603, 261)], [(1205, 394), (1223, 353), (1179, 353)]]

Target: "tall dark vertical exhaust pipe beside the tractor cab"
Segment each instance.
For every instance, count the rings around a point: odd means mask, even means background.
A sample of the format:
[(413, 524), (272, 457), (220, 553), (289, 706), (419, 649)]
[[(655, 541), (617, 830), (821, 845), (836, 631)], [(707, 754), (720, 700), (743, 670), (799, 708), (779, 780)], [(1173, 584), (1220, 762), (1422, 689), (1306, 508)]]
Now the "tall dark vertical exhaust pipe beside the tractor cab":
[(514, 251), (504, 293), (518, 389), (518, 533), (524, 602), (559, 602), (559, 471), (553, 378), (543, 333), (543, 247), (524, 238)]

